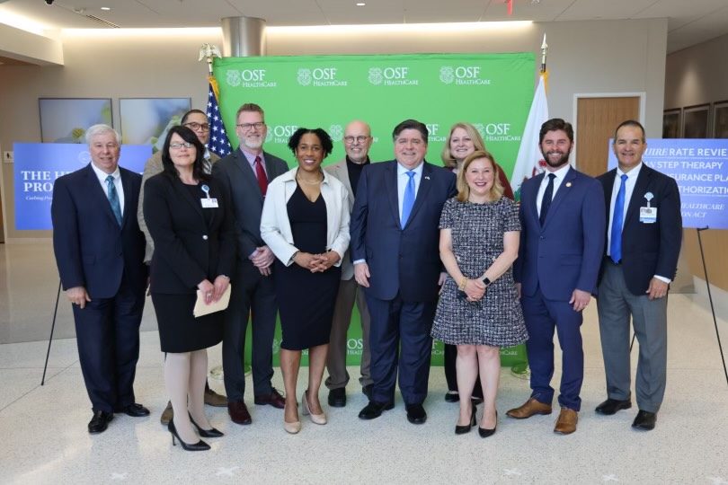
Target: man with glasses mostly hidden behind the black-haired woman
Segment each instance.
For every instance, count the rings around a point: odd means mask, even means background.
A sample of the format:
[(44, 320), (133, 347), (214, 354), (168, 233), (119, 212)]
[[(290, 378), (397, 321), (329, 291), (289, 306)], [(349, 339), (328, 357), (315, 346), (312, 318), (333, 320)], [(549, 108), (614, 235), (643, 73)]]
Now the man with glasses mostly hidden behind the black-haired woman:
[[(207, 145), (209, 140), (209, 120), (208, 115), (201, 110), (189, 110), (182, 116), (182, 122), (180, 123), (183, 127), (190, 128), (197, 135), (202, 145)], [(206, 171), (212, 171), (212, 163), (218, 162), (220, 157), (208, 150), (205, 151), (205, 159), (207, 160)], [(146, 253), (144, 256), (144, 262), (149, 264), (152, 260), (152, 255), (155, 251), (155, 243), (152, 241), (152, 235), (149, 234), (149, 230), (146, 228), (146, 222), (144, 221), (144, 184), (149, 177), (153, 177), (157, 173), (162, 173), (164, 166), (162, 165), (162, 150), (156, 152), (152, 157), (146, 161), (144, 165), (144, 174), (142, 175), (142, 185), (139, 191), (139, 207), (137, 209), (137, 220), (139, 223), (139, 229), (144, 233), (146, 238)], [(215, 406), (218, 408), (227, 405), (227, 398), (223, 395), (218, 394), (209, 388), (209, 384), (205, 384), (205, 404), (208, 406)], [(167, 407), (162, 412), (161, 421), (165, 426), (172, 420), (174, 414), (172, 410), (172, 402), (167, 402)]]

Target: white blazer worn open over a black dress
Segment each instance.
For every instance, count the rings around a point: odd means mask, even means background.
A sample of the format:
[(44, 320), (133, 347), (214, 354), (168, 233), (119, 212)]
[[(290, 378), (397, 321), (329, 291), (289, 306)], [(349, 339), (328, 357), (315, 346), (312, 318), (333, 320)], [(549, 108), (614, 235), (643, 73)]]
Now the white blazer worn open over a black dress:
[[(289, 198), (296, 191), (296, 172), (298, 168), (280, 175), (268, 186), (261, 216), (261, 236), (276, 258), (286, 266), (298, 251), (294, 245), (290, 228)], [(343, 258), (349, 248), (349, 207), (348, 193), (342, 182), (324, 172), (321, 184), (321, 197), (326, 203), (326, 249), (336, 251)], [(339, 266), (341, 260), (334, 266)]]

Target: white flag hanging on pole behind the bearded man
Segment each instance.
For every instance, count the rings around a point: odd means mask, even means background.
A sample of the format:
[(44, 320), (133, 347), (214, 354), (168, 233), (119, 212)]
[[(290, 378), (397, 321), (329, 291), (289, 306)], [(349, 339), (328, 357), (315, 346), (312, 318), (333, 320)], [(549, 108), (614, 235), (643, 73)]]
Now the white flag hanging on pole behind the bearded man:
[(526, 128), (523, 136), (520, 137), (519, 155), (516, 158), (516, 165), (513, 167), (513, 175), (510, 177), (510, 187), (513, 188), (513, 195), (520, 200), (520, 184), (526, 179), (544, 171), (546, 162), (541, 149), (538, 146), (538, 132), (541, 125), (548, 120), (548, 103), (546, 102), (546, 73), (538, 77), (536, 93), (531, 103), (531, 110), (528, 111)]

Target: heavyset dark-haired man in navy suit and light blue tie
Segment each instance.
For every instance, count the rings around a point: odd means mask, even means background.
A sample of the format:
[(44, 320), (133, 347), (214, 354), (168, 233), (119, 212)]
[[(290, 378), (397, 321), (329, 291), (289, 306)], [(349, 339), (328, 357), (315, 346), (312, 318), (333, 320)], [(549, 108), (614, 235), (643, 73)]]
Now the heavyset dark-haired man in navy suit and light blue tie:
[(366, 288), (374, 388), (361, 419), (395, 405), (399, 388), (407, 419), (422, 424), (432, 339), (430, 330), (444, 281), (439, 261), (439, 215), (456, 193), (455, 175), (424, 161), (428, 130), (407, 119), (392, 134), (395, 160), (361, 173), (351, 215), (354, 277)]

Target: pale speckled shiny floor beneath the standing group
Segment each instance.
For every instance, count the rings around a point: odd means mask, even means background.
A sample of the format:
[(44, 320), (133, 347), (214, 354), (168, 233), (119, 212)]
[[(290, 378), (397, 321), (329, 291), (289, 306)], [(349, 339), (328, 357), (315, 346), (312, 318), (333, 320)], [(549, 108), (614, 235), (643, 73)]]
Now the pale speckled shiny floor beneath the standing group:
[[(506, 410), (528, 397), (528, 382), (506, 369), (493, 437), (482, 439), (475, 430), (454, 435), (457, 404), (443, 400), (440, 368), (431, 372), (427, 423), (409, 424), (399, 395), (394, 410), (362, 421), (357, 414), (366, 400), (352, 367), (347, 407), (329, 408), (322, 391), (326, 426), (304, 420), (300, 434), (290, 436), (282, 428), (282, 411), (255, 406), (248, 397), (252, 425), (237, 426), (224, 408), (207, 408), (226, 436), (209, 439), (209, 452), (187, 453), (172, 446), (159, 424), (166, 397), (156, 331), (142, 332), (135, 386), (152, 416), (117, 415), (105, 433), (92, 437), (73, 338), (54, 340), (46, 384), (40, 386), (58, 289), (49, 245), (0, 245), (0, 270), (0, 338), (17, 342), (0, 345), (2, 483), (728, 483), (728, 385), (713, 321), (699, 295), (670, 295), (668, 390), (652, 432), (630, 428), (634, 408), (612, 417), (593, 411), (605, 390), (592, 302), (583, 325), (586, 369), (573, 435), (553, 433), (555, 414), (506, 418)], [(73, 335), (63, 300), (58, 322), (57, 335)], [(719, 324), (728, 343), (728, 325)], [(155, 328), (152, 312), (144, 328)], [(209, 360), (210, 366), (219, 364), (219, 346), (209, 349)], [(557, 371), (554, 382), (559, 378)], [(223, 392), (221, 382), (210, 384)], [(283, 387), (280, 369), (274, 385)], [(305, 388), (302, 373), (299, 392)]]

